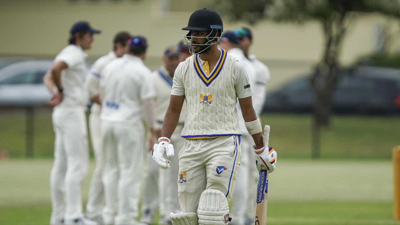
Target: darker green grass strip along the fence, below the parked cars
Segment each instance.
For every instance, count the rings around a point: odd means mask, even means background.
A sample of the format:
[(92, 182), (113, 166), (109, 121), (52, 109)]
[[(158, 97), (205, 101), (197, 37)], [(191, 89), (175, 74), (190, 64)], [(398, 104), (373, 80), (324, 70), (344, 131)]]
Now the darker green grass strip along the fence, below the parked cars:
[[(25, 112), (0, 110), (0, 150), (10, 157), (25, 156)], [(280, 152), (280, 159), (310, 159), (310, 115), (262, 115), (271, 126), (270, 145)], [(54, 132), (49, 108), (35, 111), (34, 154), (52, 158)], [(392, 148), (400, 145), (400, 117), (334, 116), (332, 127), (322, 131), (322, 159), (391, 159)]]

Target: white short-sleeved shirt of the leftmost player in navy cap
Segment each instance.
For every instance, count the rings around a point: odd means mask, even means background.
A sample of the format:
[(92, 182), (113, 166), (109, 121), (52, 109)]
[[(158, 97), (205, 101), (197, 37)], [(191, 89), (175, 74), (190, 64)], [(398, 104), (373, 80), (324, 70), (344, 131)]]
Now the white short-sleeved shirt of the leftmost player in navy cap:
[[(68, 68), (61, 72), (63, 99), (58, 106), (86, 106), (88, 91), (84, 84), (87, 54), (75, 44), (66, 46), (54, 59), (54, 62), (64, 62)], [(58, 107), (56, 106), (56, 107)]]

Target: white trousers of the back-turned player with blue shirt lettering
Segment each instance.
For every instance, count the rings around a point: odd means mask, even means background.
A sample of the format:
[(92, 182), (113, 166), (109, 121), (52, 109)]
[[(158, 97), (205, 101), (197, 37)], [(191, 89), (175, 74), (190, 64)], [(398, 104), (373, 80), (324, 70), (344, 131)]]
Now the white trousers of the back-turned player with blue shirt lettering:
[(139, 215), (145, 130), (142, 120), (102, 120), (104, 223), (135, 224)]

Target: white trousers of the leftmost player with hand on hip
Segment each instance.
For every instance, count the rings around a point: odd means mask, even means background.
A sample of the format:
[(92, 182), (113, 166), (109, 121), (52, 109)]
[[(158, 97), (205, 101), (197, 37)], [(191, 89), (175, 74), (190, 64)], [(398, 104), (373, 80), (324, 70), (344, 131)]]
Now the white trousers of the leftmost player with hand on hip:
[(56, 140), (50, 174), (52, 214), (50, 223), (82, 217), (81, 188), (88, 171), (85, 108), (58, 106), (52, 113)]

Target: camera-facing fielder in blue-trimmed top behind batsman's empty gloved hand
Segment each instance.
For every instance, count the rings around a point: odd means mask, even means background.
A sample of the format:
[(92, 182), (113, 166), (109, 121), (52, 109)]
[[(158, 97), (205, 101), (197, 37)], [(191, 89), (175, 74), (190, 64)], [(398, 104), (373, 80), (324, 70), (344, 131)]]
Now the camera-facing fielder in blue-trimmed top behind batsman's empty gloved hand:
[[(176, 67), (180, 61), (180, 51), (177, 46), (168, 46), (164, 52), (162, 58), (163, 65), (152, 73), (152, 80), (154, 89), (156, 92), (155, 102), (155, 118), (156, 123), (154, 125), (154, 133), (157, 137), (161, 136), (161, 128), (164, 120), (165, 112), (167, 111), (168, 104), (170, 102), (170, 95), (172, 90), (172, 79)], [(184, 111), (184, 109), (183, 109)], [(180, 137), (180, 132), (184, 125), (184, 113), (179, 119), (178, 127), (172, 134), (171, 140), (174, 142), (176, 148), (182, 148), (184, 138)], [(159, 205), (160, 209), (160, 220), (158, 225), (170, 224), (170, 213), (180, 212), (180, 206), (178, 202), (178, 183), (170, 183), (170, 181), (176, 180), (178, 175), (178, 163), (171, 166), (169, 170), (160, 170), (160, 168), (154, 164), (152, 159), (152, 152), (150, 151), (147, 156), (147, 171), (144, 176), (144, 199), (142, 204), (142, 223), (151, 224), (154, 217), (154, 212)], [(178, 155), (172, 159), (174, 162), (178, 162)], [(159, 195), (159, 196), (158, 196)], [(158, 202), (160, 201), (160, 202)]]

